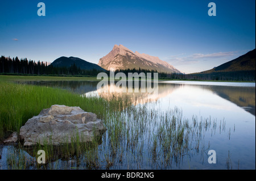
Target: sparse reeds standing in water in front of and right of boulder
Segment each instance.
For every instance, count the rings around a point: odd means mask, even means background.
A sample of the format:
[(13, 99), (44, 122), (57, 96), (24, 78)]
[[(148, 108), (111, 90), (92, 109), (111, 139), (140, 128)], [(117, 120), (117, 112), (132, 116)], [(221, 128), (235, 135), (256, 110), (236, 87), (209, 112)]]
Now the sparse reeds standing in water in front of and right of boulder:
[[(172, 169), (185, 165), (183, 161), (191, 157), (204, 161), (210, 149), (205, 134), (215, 134), (218, 128), (221, 134), (225, 127), (224, 122), (218, 127), (211, 119), (183, 119), (177, 108), (162, 112), (144, 105), (109, 113), (105, 125), (107, 131), (90, 143), (77, 142), (74, 137), (71, 144), (59, 146), (10, 147), (7, 165), (9, 169), (47, 170)], [(46, 151), (46, 164), (36, 162), (38, 150)]]

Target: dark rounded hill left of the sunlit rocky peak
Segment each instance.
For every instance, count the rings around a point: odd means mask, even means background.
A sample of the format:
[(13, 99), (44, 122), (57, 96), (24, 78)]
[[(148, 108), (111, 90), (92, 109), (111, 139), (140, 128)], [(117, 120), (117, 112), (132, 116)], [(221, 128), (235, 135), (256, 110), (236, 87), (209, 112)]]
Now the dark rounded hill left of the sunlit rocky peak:
[(97, 64), (90, 63), (77, 57), (60, 57), (51, 63), (51, 65), (55, 67), (70, 67), (73, 64), (84, 70), (96, 69), (105, 71), (105, 69), (102, 69)]

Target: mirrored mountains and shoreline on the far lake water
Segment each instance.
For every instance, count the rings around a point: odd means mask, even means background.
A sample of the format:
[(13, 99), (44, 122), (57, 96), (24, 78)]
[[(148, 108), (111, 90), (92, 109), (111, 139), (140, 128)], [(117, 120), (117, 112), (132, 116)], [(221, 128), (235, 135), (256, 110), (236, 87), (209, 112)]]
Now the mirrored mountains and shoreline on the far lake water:
[[(107, 85), (104, 89), (109, 91), (102, 92), (97, 90), (98, 82), (93, 81), (29, 81), (22, 83), (51, 86), (76, 92), (84, 96), (101, 96), (107, 100), (115, 96), (117, 98), (129, 99), (134, 105), (156, 102), (160, 98), (171, 95), (174, 91), (179, 91), (184, 86), (187, 88), (193, 87), (198, 91), (209, 90), (213, 94), (236, 104), (255, 116), (255, 83), (166, 81), (158, 83), (158, 92), (156, 94), (142, 90), (141, 83), (139, 84), (139, 92), (134, 91), (135, 87), (132, 88), (132, 92), (128, 92), (126, 87), (127, 91), (125, 93), (116, 89), (113, 85)], [(197, 98), (194, 101), (197, 102)]]

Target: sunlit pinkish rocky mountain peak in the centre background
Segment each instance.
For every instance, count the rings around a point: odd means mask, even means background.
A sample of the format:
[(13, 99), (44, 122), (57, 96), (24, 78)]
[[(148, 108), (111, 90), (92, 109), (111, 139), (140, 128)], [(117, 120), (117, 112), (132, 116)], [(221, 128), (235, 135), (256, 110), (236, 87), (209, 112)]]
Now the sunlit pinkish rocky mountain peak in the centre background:
[(114, 48), (106, 56), (100, 58), (98, 65), (106, 70), (119, 69), (149, 69), (166, 73), (180, 73), (174, 66), (158, 57), (148, 54), (133, 52), (123, 45), (114, 45)]

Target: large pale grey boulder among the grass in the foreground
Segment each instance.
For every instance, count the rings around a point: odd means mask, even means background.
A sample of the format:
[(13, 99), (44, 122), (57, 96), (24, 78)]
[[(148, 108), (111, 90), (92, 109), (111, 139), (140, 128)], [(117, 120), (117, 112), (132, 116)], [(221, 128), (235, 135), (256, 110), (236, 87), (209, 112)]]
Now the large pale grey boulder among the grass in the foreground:
[(24, 146), (59, 145), (92, 141), (104, 131), (106, 128), (95, 113), (85, 112), (80, 107), (53, 105), (28, 119), (20, 128), (19, 137), (24, 140)]

